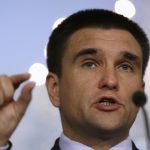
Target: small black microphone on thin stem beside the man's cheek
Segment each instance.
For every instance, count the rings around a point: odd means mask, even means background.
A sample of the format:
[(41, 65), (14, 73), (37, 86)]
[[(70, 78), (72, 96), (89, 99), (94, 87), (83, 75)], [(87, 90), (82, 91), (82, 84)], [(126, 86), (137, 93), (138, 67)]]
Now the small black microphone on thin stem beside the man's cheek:
[(146, 129), (146, 136), (147, 136), (147, 149), (150, 150), (150, 129), (149, 129), (149, 123), (148, 123), (148, 115), (144, 108), (144, 105), (147, 102), (147, 97), (144, 92), (137, 91), (133, 94), (133, 102), (137, 107), (141, 107), (142, 113), (144, 116), (145, 121), (145, 129)]

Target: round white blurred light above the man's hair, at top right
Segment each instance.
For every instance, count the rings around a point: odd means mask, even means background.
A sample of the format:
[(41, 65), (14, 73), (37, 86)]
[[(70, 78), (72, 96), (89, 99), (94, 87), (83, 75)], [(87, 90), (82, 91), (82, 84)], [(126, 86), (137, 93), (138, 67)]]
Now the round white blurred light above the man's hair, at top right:
[(115, 3), (115, 12), (131, 19), (135, 15), (136, 9), (129, 0), (117, 0)]

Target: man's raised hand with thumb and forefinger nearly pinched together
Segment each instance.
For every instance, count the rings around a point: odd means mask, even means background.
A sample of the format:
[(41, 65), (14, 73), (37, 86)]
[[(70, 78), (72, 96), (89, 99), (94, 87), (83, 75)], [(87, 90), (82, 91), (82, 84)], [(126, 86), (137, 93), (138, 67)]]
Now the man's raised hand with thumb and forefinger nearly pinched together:
[(29, 78), (29, 74), (0, 76), (0, 146), (8, 142), (31, 100), (34, 82), (26, 83), (22, 87), (19, 98), (14, 101), (15, 90)]

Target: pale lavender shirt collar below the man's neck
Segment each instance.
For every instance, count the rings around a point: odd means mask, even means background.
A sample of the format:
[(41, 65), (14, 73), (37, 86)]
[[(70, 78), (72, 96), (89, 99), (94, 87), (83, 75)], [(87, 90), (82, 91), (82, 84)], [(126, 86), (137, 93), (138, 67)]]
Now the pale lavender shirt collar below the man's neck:
[[(94, 150), (91, 147), (88, 147), (82, 143), (76, 142), (71, 140), (63, 133), (60, 136), (59, 146), (61, 150)], [(110, 150), (132, 150), (132, 142), (131, 139), (128, 137), (121, 143), (113, 146)]]

